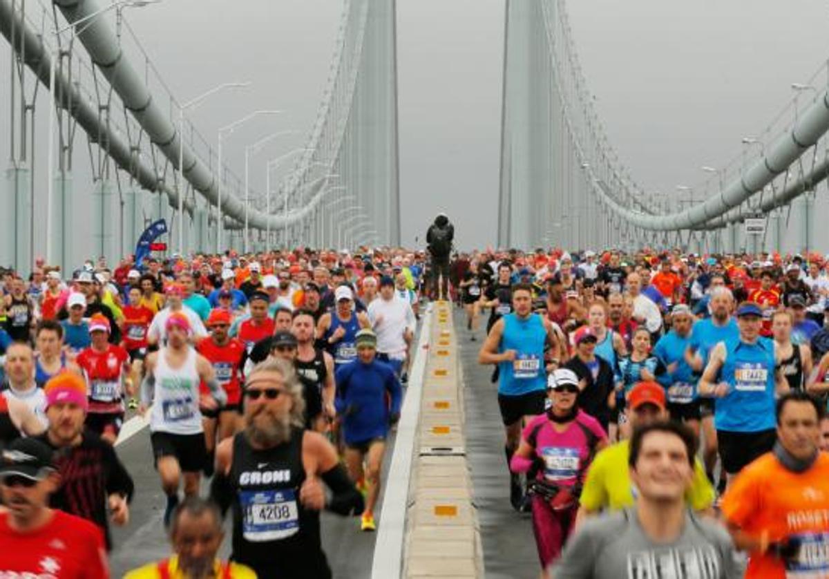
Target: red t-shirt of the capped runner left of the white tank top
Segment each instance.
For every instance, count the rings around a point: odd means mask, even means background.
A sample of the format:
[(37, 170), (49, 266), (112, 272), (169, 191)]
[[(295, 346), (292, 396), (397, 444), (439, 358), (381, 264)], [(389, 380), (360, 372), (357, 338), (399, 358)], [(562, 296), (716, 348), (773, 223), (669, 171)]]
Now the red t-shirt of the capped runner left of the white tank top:
[(90, 346), (78, 354), (75, 362), (86, 375), (90, 412), (109, 414), (124, 411), (121, 404), (121, 371), (128, 359), (129, 354), (124, 348), (111, 343), (104, 352)]

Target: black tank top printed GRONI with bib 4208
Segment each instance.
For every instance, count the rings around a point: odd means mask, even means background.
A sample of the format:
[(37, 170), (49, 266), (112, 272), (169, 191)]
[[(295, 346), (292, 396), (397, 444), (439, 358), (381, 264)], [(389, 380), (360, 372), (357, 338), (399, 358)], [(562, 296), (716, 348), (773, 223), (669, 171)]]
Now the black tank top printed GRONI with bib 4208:
[[(319, 535), (319, 513), (303, 508), (304, 431), (291, 427), (288, 442), (254, 450), (244, 433), (233, 440), (233, 560), (259, 577), (329, 579)], [(263, 575), (263, 572), (267, 575)]]

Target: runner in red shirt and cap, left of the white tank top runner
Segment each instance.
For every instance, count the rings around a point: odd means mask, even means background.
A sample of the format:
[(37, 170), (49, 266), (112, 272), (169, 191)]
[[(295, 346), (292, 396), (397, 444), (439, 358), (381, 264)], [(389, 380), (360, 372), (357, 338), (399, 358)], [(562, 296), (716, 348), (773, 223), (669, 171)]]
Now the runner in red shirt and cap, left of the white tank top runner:
[(101, 440), (114, 445), (124, 424), (124, 393), (130, 397), (134, 394), (129, 354), (109, 343), (109, 321), (102, 315), (95, 314), (90, 319), (90, 336), (92, 344), (75, 360), (88, 385), (86, 426)]

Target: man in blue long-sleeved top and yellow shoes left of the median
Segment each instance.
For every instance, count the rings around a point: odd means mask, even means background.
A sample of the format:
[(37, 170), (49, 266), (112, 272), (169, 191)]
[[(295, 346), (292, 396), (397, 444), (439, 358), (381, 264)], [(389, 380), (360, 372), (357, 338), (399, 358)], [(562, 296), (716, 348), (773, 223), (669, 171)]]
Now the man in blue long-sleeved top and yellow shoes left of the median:
[[(368, 486), (361, 530), (374, 531), (374, 508), (380, 496), (385, 439), (389, 427), (400, 420), (403, 394), (394, 370), (376, 358), (374, 332), (360, 330), (356, 334), (356, 348), (356, 361), (337, 368), (334, 405), (337, 414), (342, 416), (348, 472), (352, 480), (364, 479)], [(390, 397), (390, 403), (387, 397)]]

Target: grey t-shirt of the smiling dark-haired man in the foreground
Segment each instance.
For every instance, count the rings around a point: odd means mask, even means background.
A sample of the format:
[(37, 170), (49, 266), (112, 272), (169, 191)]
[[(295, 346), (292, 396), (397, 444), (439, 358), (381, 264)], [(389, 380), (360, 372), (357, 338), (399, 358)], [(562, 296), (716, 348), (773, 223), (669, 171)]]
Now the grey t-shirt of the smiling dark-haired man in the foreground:
[(731, 579), (742, 577), (730, 535), (688, 511), (676, 541), (647, 538), (636, 512), (590, 519), (565, 547), (555, 579)]

